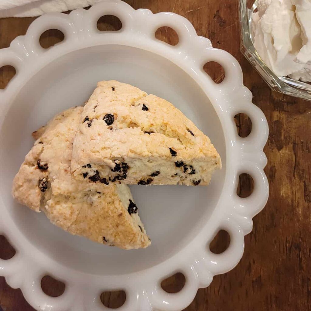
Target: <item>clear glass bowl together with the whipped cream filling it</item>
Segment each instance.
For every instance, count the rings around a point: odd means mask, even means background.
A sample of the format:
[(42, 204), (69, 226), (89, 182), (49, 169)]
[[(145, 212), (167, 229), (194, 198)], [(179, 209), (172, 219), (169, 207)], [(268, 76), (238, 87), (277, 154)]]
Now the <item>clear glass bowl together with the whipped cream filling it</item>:
[(311, 2), (240, 1), (241, 50), (267, 84), (311, 100)]

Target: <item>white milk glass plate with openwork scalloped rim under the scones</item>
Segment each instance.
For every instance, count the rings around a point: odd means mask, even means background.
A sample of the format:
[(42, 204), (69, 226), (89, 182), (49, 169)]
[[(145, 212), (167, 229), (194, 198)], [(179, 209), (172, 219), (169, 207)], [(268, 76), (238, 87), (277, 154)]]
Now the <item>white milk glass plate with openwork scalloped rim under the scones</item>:
[[(107, 14), (122, 21), (121, 30), (97, 29), (97, 20)], [(155, 38), (161, 26), (177, 32), (176, 46)], [(52, 28), (61, 30), (65, 39), (43, 49), (39, 37)], [(225, 70), (220, 84), (203, 70), (209, 61)], [(0, 260), (0, 274), (10, 286), (20, 287), (34, 308), (108, 310), (100, 293), (124, 290), (126, 301), (120, 311), (181, 310), (199, 287), (208, 286), (214, 275), (239, 262), (252, 217), (268, 197), (263, 172), (267, 159), (262, 151), (268, 127), (243, 86), (239, 63), (229, 53), (212, 48), (210, 40), (197, 36), (182, 16), (135, 11), (124, 2), (107, 0), (88, 11), (39, 17), (25, 36), (0, 50), (3, 65), (14, 66), (16, 76), (0, 90), (0, 234), (16, 254)], [(72, 236), (11, 196), (12, 179), (33, 144), (30, 133), (59, 111), (83, 104), (96, 82), (108, 79), (172, 102), (211, 138), (222, 158), (223, 169), (208, 187), (131, 187), (152, 239), (146, 249), (124, 251)], [(238, 113), (252, 121), (246, 138), (237, 134), (234, 115)], [(241, 173), (250, 174), (255, 183), (247, 198), (236, 194)], [(220, 229), (230, 234), (230, 246), (214, 254), (209, 243)], [(182, 272), (186, 283), (179, 293), (168, 294), (160, 283), (175, 272)], [(52, 298), (43, 293), (40, 281), (46, 274), (66, 284), (63, 295)]]

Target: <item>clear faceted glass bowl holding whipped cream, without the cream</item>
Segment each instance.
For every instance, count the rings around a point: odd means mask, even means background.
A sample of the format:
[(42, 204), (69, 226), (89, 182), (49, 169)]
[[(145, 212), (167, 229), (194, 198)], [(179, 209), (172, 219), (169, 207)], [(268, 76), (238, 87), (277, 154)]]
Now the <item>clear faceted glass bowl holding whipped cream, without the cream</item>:
[(241, 52), (272, 90), (311, 101), (311, 84), (289, 77), (277, 77), (258, 55), (252, 38), (252, 15), (257, 8), (258, 0), (255, 0), (250, 9), (248, 9), (247, 3), (249, 3), (247, 0), (239, 1)]

